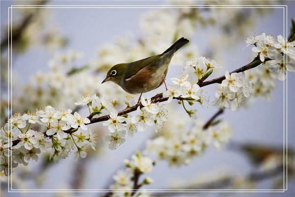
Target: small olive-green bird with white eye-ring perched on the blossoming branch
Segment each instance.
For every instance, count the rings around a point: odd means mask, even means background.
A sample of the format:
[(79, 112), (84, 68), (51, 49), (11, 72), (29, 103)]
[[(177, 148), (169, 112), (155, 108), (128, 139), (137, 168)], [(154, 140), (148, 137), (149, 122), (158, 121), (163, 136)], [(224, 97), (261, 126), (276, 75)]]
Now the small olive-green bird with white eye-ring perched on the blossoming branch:
[(165, 84), (168, 66), (174, 53), (188, 42), (188, 39), (181, 37), (162, 54), (136, 62), (115, 65), (108, 71), (102, 83), (113, 81), (127, 93), (141, 94), (140, 100), (143, 93)]

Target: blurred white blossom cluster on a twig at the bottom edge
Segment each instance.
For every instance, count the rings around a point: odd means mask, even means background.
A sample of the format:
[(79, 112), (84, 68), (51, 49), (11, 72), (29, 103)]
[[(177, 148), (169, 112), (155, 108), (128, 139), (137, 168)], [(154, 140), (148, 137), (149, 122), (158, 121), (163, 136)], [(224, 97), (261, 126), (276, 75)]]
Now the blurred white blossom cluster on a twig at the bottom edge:
[[(134, 190), (137, 187), (151, 184), (153, 180), (150, 177), (145, 177), (143, 181), (139, 182), (139, 177), (143, 174), (149, 173), (153, 169), (153, 161), (149, 157), (144, 157), (140, 152), (131, 156), (131, 160), (124, 160), (126, 166), (125, 170), (119, 170), (113, 176), (114, 183), (110, 186), (111, 190)], [(137, 180), (136, 180), (137, 179)], [(135, 181), (138, 181), (135, 183)], [(134, 188), (134, 186), (136, 188)], [(112, 197), (121, 197), (120, 193), (112, 193)], [(124, 197), (131, 197), (132, 191), (126, 191)], [(139, 197), (141, 195), (139, 194)]]

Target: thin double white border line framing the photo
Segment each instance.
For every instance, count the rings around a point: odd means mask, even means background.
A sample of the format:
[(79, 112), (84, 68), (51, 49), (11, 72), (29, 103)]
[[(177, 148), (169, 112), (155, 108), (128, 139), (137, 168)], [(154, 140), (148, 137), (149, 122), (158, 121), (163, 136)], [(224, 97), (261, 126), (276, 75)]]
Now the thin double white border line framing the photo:
[[(8, 85), (8, 111), (12, 111), (12, 8), (283, 8), (284, 9), (284, 39), (285, 36), (288, 36), (288, 29), (286, 29), (285, 32), (285, 16), (288, 18), (288, 5), (11, 5), (8, 7), (8, 29), (10, 29), (10, 36), (8, 31), (8, 81), (10, 82), (10, 86)], [(285, 8), (286, 8), (286, 15), (285, 15)], [(288, 28), (288, 21), (286, 23), (286, 28)], [(10, 39), (9, 39), (10, 38)], [(288, 51), (287, 51), (288, 53)], [(10, 56), (9, 56), (10, 55)], [(9, 61), (10, 57), (10, 61)], [(284, 59), (285, 60), (285, 59)], [(10, 64), (9, 64), (10, 63)], [(9, 67), (11, 65), (11, 67)], [(287, 78), (287, 86), (286, 86), (286, 98), (288, 96), (288, 78)], [(9, 94), (9, 91), (10, 94)], [(285, 189), (285, 81), (284, 81), (284, 123), (283, 123), (283, 130), (284, 130), (284, 189), (283, 190), (14, 190), (12, 189), (12, 168), (11, 168), (11, 177), (8, 176), (8, 193), (10, 192), (87, 192), (87, 193), (100, 193), (100, 192), (132, 192), (132, 191), (138, 191), (138, 192), (179, 192), (179, 193), (197, 193), (197, 192), (285, 192), (287, 191), (288, 187)], [(287, 105), (288, 105), (288, 98), (287, 98)], [(10, 108), (9, 108), (10, 106)], [(288, 119), (288, 108), (286, 106), (287, 111), (287, 118)], [(287, 126), (286, 121), (286, 126)], [(286, 130), (286, 137), (288, 136), (288, 129)], [(287, 141), (287, 140), (286, 140)], [(11, 142), (12, 143), (12, 140)], [(9, 145), (9, 140), (8, 140)], [(288, 141), (287, 141), (288, 145)], [(286, 152), (287, 153), (287, 152)], [(288, 154), (288, 153), (287, 153)], [(9, 155), (8, 155), (8, 163), (9, 163)], [(287, 157), (286, 157), (287, 159)], [(12, 164), (12, 161), (11, 161)], [(286, 163), (287, 164), (287, 163)], [(10, 181), (9, 181), (10, 179)], [(9, 182), (10, 182), (10, 188), (9, 188)], [(288, 181), (286, 179), (286, 185)]]

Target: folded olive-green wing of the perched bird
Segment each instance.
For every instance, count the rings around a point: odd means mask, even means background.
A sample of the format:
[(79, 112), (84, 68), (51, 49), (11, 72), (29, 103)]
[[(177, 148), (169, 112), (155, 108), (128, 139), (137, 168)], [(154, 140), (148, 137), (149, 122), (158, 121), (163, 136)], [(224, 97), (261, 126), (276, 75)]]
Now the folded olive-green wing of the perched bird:
[(130, 79), (132, 76), (134, 76), (137, 72), (142, 70), (148, 65), (155, 65), (156, 62), (158, 61), (159, 56), (154, 55), (149, 58), (143, 59), (143, 60), (138, 60), (136, 62), (129, 63), (126, 72), (125, 72), (125, 79)]

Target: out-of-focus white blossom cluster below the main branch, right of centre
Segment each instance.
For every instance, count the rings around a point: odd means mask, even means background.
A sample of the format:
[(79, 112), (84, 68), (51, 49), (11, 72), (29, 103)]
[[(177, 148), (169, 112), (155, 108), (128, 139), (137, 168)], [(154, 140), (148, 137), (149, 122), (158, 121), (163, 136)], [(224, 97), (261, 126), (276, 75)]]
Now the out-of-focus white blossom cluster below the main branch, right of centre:
[(232, 130), (227, 122), (221, 122), (216, 127), (203, 129), (193, 123), (188, 129), (181, 127), (177, 131), (168, 131), (167, 136), (159, 136), (147, 142), (145, 153), (155, 155), (157, 160), (165, 160), (170, 166), (189, 164), (194, 157), (204, 154), (212, 144), (220, 150), (227, 144)]

